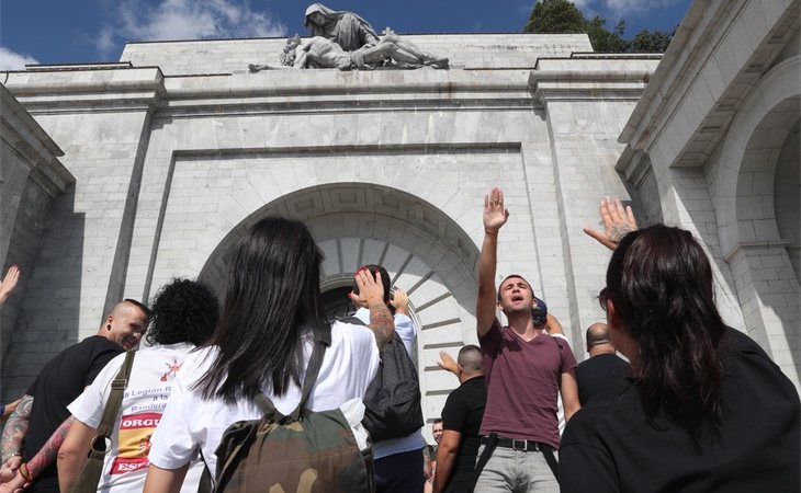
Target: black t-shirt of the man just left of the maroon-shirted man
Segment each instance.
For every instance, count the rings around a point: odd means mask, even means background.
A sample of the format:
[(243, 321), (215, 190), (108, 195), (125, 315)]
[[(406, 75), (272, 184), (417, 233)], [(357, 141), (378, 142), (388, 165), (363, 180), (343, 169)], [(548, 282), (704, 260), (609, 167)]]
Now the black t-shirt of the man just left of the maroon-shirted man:
[(484, 377), (471, 378), (448, 395), (442, 409), (442, 429), (459, 432), (462, 439), (445, 491), (473, 479), (476, 454), (481, 445), (478, 429), (486, 403), (487, 388)]

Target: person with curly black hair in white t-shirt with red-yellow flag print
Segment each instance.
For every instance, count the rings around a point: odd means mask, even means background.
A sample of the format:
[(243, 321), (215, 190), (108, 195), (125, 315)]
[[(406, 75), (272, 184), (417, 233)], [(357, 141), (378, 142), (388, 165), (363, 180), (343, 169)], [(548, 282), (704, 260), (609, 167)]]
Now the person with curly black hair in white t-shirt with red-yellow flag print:
[[(173, 380), (189, 352), (208, 339), (218, 317), (217, 298), (205, 285), (174, 279), (161, 288), (153, 303), (153, 324), (147, 333), (153, 346), (135, 354), (98, 491), (142, 491), (150, 436), (167, 405)], [(78, 479), (109, 400), (111, 382), (124, 360), (124, 354), (112, 359), (68, 406), (76, 422), (58, 454), (61, 491), (69, 491)], [(196, 491), (201, 473), (202, 463), (198, 461), (190, 468), (183, 491)]]

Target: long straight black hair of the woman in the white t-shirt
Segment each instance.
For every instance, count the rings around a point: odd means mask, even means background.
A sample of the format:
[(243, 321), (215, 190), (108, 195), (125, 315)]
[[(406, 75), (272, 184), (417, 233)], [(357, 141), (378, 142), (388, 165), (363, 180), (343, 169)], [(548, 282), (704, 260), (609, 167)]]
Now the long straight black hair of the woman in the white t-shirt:
[(212, 367), (198, 381), (204, 398), (252, 399), (266, 382), (274, 395), (300, 385), (304, 328), (325, 323), (323, 253), (301, 221), (268, 217), (241, 238), (228, 275), (223, 316), (208, 346)]

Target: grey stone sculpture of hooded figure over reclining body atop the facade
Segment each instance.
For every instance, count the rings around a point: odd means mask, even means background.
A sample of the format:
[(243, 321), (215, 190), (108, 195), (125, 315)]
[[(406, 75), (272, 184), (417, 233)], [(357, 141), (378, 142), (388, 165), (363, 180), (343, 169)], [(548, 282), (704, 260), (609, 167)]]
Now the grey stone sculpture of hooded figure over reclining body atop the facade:
[(286, 39), (281, 67), (249, 65), (251, 71), (271, 68), (337, 68), (374, 70), (376, 68), (448, 68), (448, 58), (433, 56), (403, 39), (387, 27), (382, 36), (364, 19), (347, 11), (335, 11), (321, 3), (306, 9), (304, 21), (312, 37), (294, 35)]

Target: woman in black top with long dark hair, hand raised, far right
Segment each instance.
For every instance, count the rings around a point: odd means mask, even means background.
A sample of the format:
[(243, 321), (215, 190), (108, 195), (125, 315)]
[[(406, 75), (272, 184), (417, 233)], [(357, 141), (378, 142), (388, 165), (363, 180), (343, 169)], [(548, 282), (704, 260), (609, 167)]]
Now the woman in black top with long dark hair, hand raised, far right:
[(799, 397), (748, 336), (723, 322), (712, 267), (689, 231), (636, 230), (601, 204), (613, 250), (599, 300), (633, 378), (573, 416), (560, 449), (569, 492), (799, 491)]

